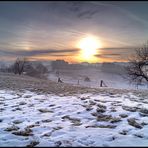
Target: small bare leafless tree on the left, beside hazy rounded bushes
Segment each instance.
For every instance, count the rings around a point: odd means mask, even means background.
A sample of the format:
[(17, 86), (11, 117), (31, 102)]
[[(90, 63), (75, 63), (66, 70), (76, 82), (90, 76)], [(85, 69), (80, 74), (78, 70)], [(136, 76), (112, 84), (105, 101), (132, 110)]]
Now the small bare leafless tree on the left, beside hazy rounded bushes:
[(12, 65), (12, 69), (14, 73), (21, 75), (24, 71), (24, 67), (26, 63), (27, 63), (26, 58), (17, 58), (15, 63)]

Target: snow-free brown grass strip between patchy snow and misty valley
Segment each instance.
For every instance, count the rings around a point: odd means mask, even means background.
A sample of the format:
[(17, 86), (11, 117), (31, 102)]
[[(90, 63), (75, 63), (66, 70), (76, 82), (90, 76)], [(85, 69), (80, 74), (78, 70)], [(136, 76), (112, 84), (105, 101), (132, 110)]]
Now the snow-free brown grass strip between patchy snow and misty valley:
[[(56, 83), (51, 80), (37, 79), (25, 75), (14, 75), (9, 73), (0, 73), (0, 88), (11, 90), (30, 90), (37, 93), (53, 93), (73, 95), (78, 93), (95, 93), (104, 94), (108, 93), (111, 96), (117, 94), (127, 94), (129, 92), (136, 96), (147, 98), (148, 91), (145, 90), (127, 90), (127, 89), (114, 89), (114, 88), (88, 88), (82, 86), (72, 86), (66, 83)], [(29, 97), (29, 96), (27, 96)]]

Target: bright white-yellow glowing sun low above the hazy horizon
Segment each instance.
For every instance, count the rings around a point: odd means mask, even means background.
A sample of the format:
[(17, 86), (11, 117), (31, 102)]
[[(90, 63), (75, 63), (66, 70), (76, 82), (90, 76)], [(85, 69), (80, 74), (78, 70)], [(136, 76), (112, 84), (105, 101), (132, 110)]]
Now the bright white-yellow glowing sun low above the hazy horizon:
[(87, 36), (80, 40), (78, 43), (80, 51), (80, 60), (87, 62), (96, 61), (95, 55), (98, 53), (98, 49), (101, 48), (100, 40), (94, 36)]

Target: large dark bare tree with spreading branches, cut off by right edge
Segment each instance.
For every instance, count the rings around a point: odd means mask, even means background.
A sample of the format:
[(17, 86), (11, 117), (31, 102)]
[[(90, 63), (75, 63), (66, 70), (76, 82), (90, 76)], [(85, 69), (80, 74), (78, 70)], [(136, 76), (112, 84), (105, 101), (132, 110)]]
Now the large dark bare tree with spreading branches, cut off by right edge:
[(135, 55), (129, 59), (126, 67), (128, 78), (137, 85), (142, 82), (148, 83), (148, 42), (141, 48), (135, 50)]

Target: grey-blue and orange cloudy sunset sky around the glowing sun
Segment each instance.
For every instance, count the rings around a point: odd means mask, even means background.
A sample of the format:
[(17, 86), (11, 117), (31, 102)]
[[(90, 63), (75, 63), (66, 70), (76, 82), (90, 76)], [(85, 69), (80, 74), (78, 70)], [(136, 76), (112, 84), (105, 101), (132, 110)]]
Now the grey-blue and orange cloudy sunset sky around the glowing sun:
[[(0, 2), (0, 59), (125, 62), (148, 40), (147, 1)], [(78, 43), (101, 43), (94, 61)]]

